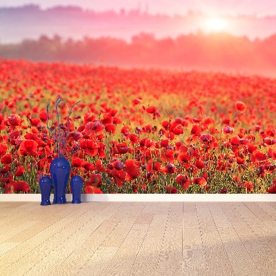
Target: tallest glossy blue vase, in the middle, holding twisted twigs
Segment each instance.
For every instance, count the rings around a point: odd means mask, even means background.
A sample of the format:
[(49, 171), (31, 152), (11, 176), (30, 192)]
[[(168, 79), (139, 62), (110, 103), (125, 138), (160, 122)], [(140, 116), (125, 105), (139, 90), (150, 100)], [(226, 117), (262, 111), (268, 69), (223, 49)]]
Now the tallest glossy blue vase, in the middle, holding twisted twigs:
[(54, 184), (53, 204), (66, 203), (66, 186), (70, 175), (70, 164), (64, 157), (57, 157), (50, 164), (50, 174)]

